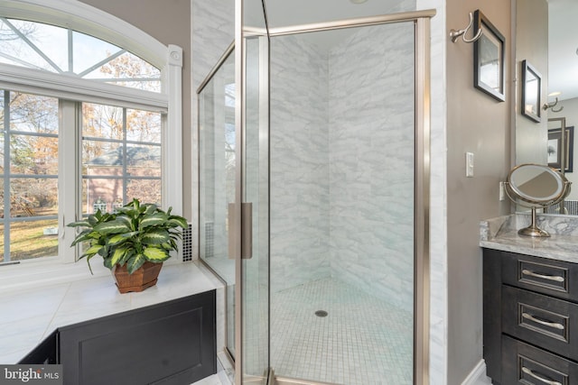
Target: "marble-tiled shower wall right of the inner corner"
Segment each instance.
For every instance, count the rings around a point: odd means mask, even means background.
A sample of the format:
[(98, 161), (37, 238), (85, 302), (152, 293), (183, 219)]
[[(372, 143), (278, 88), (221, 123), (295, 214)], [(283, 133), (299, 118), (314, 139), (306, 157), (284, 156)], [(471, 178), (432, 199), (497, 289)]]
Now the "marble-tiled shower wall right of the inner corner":
[(414, 25), (330, 52), (331, 275), (413, 309)]

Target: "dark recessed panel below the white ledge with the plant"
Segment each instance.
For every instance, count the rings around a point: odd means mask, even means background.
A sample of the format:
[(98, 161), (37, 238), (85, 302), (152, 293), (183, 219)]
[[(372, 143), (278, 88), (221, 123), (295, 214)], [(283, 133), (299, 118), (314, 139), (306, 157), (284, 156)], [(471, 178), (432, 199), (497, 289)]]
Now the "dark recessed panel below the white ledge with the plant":
[(190, 384), (216, 372), (215, 290), (61, 328), (65, 384)]

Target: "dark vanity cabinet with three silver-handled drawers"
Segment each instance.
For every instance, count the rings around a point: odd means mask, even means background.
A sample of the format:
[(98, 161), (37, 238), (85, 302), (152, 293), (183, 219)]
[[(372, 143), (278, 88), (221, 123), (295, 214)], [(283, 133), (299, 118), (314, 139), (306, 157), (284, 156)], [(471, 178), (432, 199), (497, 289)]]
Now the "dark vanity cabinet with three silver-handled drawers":
[(578, 264), (483, 251), (484, 359), (494, 384), (578, 384)]

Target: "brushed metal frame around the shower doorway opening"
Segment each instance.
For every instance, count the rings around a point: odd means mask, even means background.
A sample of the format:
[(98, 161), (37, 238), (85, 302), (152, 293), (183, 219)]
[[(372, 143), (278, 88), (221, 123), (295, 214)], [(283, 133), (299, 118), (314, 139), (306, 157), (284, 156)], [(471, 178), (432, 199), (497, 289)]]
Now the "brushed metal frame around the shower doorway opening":
[[(271, 28), (267, 31), (256, 31), (244, 26), (244, 0), (236, 0), (235, 6), (235, 45), (236, 50), (236, 137), (239, 160), (237, 165), (236, 215), (235, 227), (235, 258), (236, 258), (236, 344), (235, 344), (235, 385), (241, 385), (243, 379), (243, 244), (247, 242), (242, 234), (243, 180), (244, 180), (244, 145), (245, 145), (245, 87), (246, 78), (246, 47), (245, 39), (255, 33), (264, 36), (282, 36), (304, 32), (330, 31), (343, 28), (362, 27), (386, 23), (412, 22), (415, 25), (415, 195), (414, 195), (414, 383), (425, 385), (429, 383), (429, 341), (430, 341), (430, 130), (431, 130), (431, 91), (430, 91), (430, 19), (435, 10), (387, 14), (356, 19), (348, 19), (329, 23), (312, 23), (283, 28)], [(268, 99), (268, 95), (267, 95)], [(267, 109), (268, 112), (268, 109)], [(240, 164), (239, 164), (240, 163)], [(268, 325), (267, 325), (268, 327)], [(269, 360), (270, 364), (270, 360)], [(269, 373), (272, 381), (271, 368), (263, 368)], [(263, 383), (263, 382), (261, 382)], [(275, 382), (284, 384), (319, 384), (307, 380), (292, 380), (276, 378)]]

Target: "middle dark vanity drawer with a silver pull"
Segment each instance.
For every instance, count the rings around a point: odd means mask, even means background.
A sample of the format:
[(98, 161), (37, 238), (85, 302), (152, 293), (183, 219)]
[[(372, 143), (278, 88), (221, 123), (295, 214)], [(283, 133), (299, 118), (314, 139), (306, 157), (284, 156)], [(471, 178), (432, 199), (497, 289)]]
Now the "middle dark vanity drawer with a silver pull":
[(578, 305), (502, 287), (502, 332), (578, 361)]

